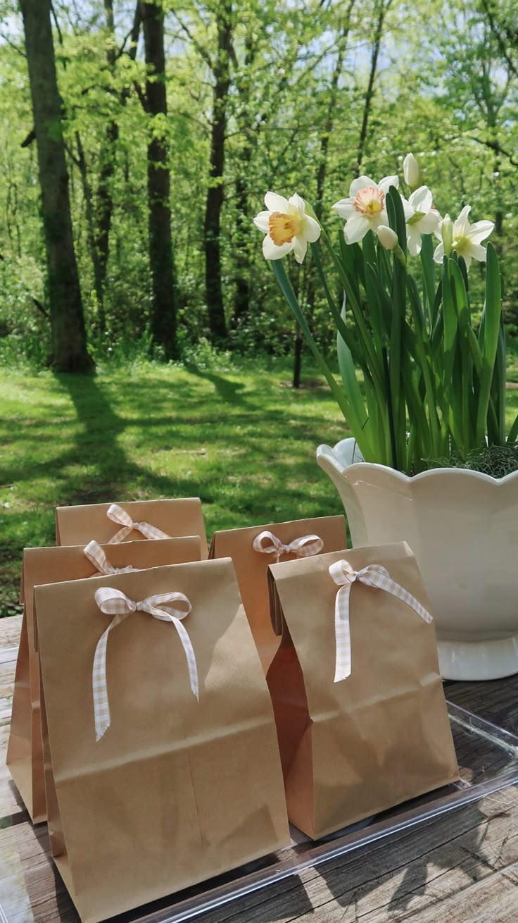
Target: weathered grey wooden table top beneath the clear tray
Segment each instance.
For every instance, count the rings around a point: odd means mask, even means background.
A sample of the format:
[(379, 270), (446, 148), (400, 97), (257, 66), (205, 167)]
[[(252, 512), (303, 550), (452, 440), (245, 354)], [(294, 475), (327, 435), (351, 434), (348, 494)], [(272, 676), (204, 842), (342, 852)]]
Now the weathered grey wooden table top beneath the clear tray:
[[(0, 923), (77, 923), (53, 869), (46, 825), (32, 826), (5, 765), (20, 625), (21, 617), (0, 619)], [(448, 697), (512, 732), (518, 728), (518, 677), (457, 683)], [(518, 923), (518, 791), (506, 788), (200, 919)]]

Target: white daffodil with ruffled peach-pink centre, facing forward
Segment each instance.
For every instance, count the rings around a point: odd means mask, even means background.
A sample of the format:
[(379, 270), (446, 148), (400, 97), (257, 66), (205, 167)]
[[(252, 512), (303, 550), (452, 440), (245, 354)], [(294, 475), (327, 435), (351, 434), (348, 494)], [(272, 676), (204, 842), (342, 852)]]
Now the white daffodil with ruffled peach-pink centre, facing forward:
[(368, 231), (375, 232), (380, 224), (388, 225), (385, 196), (390, 186), (399, 186), (397, 176), (384, 176), (379, 183), (369, 176), (353, 179), (349, 198), (341, 198), (333, 206), (340, 218), (346, 219), (346, 244), (358, 244)]

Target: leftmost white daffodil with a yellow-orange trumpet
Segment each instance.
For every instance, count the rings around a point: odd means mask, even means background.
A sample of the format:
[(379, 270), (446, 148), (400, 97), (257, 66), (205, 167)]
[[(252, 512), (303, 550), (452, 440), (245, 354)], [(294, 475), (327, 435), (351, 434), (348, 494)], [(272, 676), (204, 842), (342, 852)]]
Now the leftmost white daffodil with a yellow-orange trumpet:
[(267, 192), (265, 206), (267, 211), (260, 211), (253, 219), (255, 227), (266, 235), (265, 259), (280, 259), (293, 250), (295, 259), (301, 263), (308, 243), (314, 244), (320, 237), (320, 224), (306, 214), (306, 203), (297, 194), (288, 199)]

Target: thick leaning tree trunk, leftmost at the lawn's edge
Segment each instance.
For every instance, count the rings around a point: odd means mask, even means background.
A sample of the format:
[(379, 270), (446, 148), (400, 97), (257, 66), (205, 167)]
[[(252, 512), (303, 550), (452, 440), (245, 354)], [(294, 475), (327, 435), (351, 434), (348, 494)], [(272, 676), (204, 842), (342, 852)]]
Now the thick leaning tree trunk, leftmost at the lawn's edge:
[(85, 318), (77, 275), (68, 174), (57, 88), (50, 0), (20, 0), (38, 148), (41, 214), (51, 307), (52, 362), (60, 371), (84, 372)]

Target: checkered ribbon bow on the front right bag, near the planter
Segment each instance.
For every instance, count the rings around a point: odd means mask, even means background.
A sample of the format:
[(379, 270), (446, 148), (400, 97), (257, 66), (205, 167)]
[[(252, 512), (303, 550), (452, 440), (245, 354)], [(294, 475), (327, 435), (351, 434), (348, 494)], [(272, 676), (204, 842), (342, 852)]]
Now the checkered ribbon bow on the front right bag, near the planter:
[(347, 679), (351, 675), (349, 596), (351, 586), (355, 581), (392, 593), (396, 599), (400, 599), (414, 609), (425, 622), (432, 621), (430, 612), (425, 609), (424, 605), (421, 605), (416, 597), (408, 593), (399, 583), (392, 580), (388, 570), (380, 564), (370, 564), (362, 570), (353, 570), (348, 561), (336, 561), (336, 564), (331, 564), (329, 573), (340, 587), (336, 593), (335, 603), (336, 683), (339, 683), (341, 679)]

